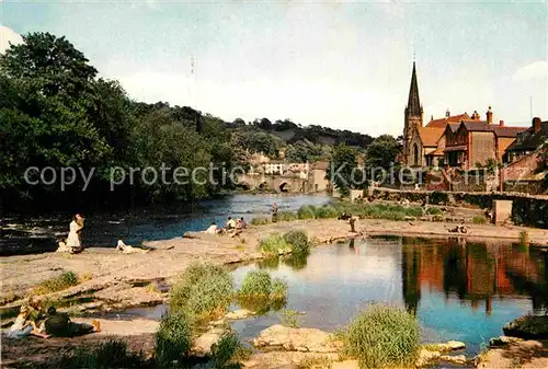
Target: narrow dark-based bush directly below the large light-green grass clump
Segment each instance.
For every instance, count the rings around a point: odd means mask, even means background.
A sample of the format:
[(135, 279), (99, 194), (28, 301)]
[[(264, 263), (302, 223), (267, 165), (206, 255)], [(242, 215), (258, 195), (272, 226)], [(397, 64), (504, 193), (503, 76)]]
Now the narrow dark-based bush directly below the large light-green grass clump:
[(192, 322), (185, 311), (170, 311), (156, 333), (156, 359), (160, 368), (183, 362), (192, 347)]

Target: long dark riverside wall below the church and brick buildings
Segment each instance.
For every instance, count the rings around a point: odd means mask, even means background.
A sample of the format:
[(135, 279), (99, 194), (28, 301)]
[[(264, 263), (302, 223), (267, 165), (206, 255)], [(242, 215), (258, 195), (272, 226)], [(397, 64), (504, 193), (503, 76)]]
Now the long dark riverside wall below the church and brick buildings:
[(512, 221), (516, 224), (548, 229), (548, 196), (517, 193), (470, 193), (442, 191), (397, 191), (375, 188), (373, 197), (384, 200), (423, 203), (432, 205), (470, 206), (492, 209), (493, 200), (512, 200)]

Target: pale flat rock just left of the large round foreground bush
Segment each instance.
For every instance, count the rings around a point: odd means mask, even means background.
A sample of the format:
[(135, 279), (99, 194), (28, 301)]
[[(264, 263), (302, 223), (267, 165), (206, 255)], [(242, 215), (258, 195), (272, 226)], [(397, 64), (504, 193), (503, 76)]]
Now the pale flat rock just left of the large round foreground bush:
[(255, 347), (283, 347), (289, 351), (336, 353), (342, 343), (317, 328), (292, 328), (275, 324), (252, 341)]

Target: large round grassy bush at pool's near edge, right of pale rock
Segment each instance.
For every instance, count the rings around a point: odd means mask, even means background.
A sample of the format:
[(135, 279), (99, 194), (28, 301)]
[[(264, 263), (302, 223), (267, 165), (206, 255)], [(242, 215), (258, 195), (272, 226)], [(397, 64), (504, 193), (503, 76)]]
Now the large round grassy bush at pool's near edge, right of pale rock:
[(373, 304), (342, 334), (344, 349), (361, 368), (406, 367), (419, 351), (420, 327), (404, 310)]

